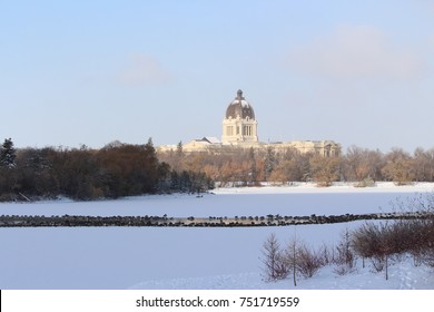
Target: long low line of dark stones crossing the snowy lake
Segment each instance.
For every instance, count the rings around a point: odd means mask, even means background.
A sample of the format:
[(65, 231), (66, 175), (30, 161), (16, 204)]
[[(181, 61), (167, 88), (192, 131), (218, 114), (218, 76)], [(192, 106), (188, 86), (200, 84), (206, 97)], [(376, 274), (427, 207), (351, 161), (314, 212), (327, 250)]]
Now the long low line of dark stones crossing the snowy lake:
[(363, 220), (427, 220), (432, 213), (378, 213), (345, 214), (328, 216), (235, 216), (235, 217), (168, 217), (168, 216), (27, 216), (1, 215), (0, 227), (56, 227), (56, 226), (198, 226), (198, 227), (243, 227), (243, 226), (286, 226), (304, 224), (332, 224)]

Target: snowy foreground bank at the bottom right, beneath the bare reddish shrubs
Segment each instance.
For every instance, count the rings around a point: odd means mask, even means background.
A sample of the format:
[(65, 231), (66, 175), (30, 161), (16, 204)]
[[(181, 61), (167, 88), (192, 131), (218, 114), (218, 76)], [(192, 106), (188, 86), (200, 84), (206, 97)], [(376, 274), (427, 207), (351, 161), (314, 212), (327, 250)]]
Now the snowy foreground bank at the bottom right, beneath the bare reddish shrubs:
[(358, 267), (346, 275), (337, 275), (332, 266), (323, 267), (313, 279), (298, 279), (297, 286), (293, 280), (264, 283), (258, 273), (239, 273), (207, 277), (186, 277), (154, 280), (139, 283), (130, 289), (207, 289), (207, 290), (432, 290), (434, 287), (433, 270), (426, 266), (414, 267), (411, 260), (395, 263), (389, 267), (388, 281), (384, 273), (374, 273), (369, 267)]

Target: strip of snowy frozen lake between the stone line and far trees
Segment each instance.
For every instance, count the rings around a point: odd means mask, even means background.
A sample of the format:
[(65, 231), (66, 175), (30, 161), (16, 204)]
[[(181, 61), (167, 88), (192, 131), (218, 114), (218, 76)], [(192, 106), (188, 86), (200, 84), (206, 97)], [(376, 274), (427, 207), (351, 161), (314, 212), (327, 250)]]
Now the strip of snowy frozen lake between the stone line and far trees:
[(218, 188), (204, 197), (195, 195), (150, 195), (117, 201), (0, 203), (0, 214), (10, 215), (164, 215), (208, 217), (241, 215), (310, 215), (391, 212), (396, 198), (433, 192), (434, 184), (355, 188), (346, 185), (318, 188), (313, 184), (296, 187)]

